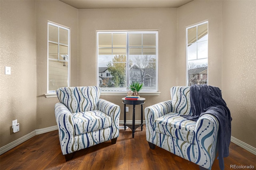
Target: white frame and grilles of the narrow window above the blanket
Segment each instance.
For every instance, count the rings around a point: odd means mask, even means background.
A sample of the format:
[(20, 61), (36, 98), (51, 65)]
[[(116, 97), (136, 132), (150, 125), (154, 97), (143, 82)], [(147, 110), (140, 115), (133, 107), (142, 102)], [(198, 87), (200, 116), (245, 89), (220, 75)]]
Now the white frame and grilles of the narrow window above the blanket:
[[(209, 35), (209, 23), (208, 23), (208, 21), (205, 21), (205, 22), (202, 22), (202, 23), (200, 23), (200, 24), (195, 24), (195, 25), (193, 25), (193, 26), (190, 26), (190, 27), (187, 27), (186, 28), (186, 85), (188, 85), (188, 29), (190, 29), (190, 28), (194, 28), (194, 27), (198, 27), (198, 26), (201, 26), (201, 25), (203, 25), (203, 24), (206, 24), (207, 23), (207, 34)], [(196, 40), (198, 39), (198, 32), (196, 32)], [(209, 38), (207, 39), (207, 50), (209, 49)], [(198, 51), (198, 47), (196, 47), (196, 50)], [(208, 52), (209, 53), (209, 52)], [(205, 58), (200, 58), (200, 59), (206, 59), (207, 58), (207, 67), (208, 67), (208, 55), (207, 55), (207, 57), (205, 57)], [(198, 59), (198, 55), (196, 56), (196, 59), (194, 59), (194, 60), (199, 60)], [(191, 60), (190, 60), (191, 61)], [(208, 70), (209, 69), (207, 69), (207, 84), (208, 84)]]

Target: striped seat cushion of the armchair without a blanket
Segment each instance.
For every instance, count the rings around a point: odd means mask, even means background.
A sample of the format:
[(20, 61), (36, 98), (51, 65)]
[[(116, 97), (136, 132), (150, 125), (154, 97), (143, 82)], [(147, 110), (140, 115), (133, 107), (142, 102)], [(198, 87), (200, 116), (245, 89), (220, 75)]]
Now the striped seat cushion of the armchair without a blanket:
[(76, 134), (83, 134), (108, 128), (111, 126), (111, 117), (101, 111), (85, 111), (74, 113)]

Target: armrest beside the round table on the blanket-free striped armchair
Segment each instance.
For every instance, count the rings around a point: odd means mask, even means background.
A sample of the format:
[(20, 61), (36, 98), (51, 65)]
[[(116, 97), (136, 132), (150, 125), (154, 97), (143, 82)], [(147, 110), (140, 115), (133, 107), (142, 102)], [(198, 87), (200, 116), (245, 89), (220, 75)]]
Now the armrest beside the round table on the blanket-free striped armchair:
[(98, 110), (106, 113), (111, 117), (111, 138), (119, 136), (119, 118), (120, 118), (120, 106), (106, 101), (104, 99), (98, 100)]

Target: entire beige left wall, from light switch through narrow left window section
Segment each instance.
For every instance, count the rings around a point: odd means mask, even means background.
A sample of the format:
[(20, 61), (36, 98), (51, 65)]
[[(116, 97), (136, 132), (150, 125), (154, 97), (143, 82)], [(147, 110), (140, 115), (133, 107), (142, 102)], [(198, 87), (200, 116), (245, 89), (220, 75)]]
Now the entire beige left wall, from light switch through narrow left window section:
[[(30, 132), (56, 125), (47, 98), (47, 21), (70, 28), (71, 86), (78, 84), (78, 10), (58, 0), (0, 1), (0, 147)], [(4, 66), (11, 75), (4, 75)], [(12, 120), (20, 131), (12, 133)]]

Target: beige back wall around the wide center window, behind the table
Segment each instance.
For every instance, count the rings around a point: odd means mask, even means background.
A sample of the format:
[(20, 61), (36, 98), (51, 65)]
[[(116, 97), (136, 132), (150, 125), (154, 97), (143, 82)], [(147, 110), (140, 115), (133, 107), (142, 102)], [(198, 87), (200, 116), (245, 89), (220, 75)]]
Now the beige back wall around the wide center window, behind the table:
[[(158, 30), (158, 85), (161, 94), (141, 97), (146, 98), (144, 108), (170, 99), (170, 87), (175, 85), (176, 78), (176, 19), (176, 8), (79, 10), (79, 85), (96, 85), (97, 30)], [(101, 96), (121, 107), (120, 120), (124, 120), (122, 97), (124, 95)], [(136, 113), (136, 120), (140, 120), (139, 106), (136, 107)], [(126, 119), (132, 120), (130, 105)]]

